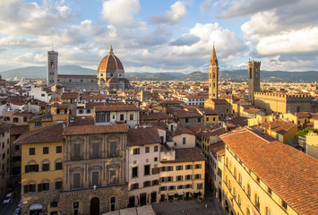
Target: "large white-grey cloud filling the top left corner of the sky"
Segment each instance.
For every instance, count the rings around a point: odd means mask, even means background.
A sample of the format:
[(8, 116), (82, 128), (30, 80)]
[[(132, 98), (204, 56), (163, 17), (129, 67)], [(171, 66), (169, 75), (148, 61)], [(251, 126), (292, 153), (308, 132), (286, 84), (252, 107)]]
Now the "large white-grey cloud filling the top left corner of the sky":
[(75, 17), (71, 9), (62, 4), (5, 1), (0, 7), (0, 34), (47, 34), (51, 28), (72, 22)]

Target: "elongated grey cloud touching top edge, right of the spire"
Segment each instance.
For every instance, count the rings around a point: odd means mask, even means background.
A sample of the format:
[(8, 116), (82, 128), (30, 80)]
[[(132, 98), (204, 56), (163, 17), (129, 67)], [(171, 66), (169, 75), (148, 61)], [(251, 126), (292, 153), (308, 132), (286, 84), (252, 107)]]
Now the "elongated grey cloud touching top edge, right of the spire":
[(230, 3), (225, 11), (219, 15), (220, 19), (232, 19), (263, 12), (283, 5), (294, 4), (299, 0), (238, 0)]

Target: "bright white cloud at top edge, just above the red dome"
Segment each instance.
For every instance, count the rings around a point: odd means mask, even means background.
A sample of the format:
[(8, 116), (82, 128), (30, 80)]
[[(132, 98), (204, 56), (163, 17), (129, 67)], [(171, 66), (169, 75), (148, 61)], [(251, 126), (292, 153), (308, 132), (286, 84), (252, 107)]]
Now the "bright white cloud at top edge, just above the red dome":
[(139, 13), (139, 0), (107, 0), (103, 3), (102, 18), (115, 25), (133, 25), (133, 15)]

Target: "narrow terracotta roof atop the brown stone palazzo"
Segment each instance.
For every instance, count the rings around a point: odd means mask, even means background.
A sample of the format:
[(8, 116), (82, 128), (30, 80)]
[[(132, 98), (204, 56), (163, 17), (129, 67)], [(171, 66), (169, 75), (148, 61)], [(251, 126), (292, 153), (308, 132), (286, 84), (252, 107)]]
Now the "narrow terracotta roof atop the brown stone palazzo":
[(84, 135), (93, 133), (127, 133), (127, 125), (80, 125), (67, 127), (63, 135)]

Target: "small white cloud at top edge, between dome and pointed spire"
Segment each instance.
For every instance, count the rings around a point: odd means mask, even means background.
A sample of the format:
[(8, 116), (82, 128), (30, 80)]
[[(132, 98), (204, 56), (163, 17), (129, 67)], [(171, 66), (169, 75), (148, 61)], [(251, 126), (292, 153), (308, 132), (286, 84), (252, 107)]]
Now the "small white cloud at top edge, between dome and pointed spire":
[(164, 14), (151, 17), (151, 22), (177, 24), (185, 19), (186, 9), (183, 2), (177, 1), (170, 8), (171, 10), (166, 11)]

